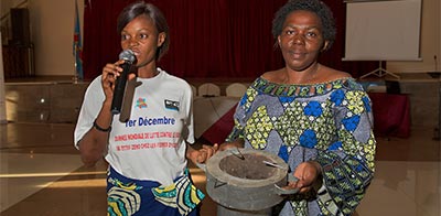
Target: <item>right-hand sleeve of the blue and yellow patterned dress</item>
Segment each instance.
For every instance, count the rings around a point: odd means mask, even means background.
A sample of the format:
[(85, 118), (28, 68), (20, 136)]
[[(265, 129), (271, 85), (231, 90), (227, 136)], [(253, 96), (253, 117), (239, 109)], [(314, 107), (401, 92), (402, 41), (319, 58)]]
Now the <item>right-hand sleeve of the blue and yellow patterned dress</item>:
[(318, 154), (323, 173), (318, 198), (322, 209), (351, 215), (374, 177), (376, 140), (372, 102), (358, 87), (334, 91), (331, 101), (337, 140)]

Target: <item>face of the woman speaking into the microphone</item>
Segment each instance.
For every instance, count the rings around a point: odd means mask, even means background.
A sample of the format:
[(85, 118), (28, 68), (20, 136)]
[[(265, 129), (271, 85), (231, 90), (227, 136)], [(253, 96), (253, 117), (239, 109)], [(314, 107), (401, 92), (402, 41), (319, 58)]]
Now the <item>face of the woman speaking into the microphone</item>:
[(122, 29), (121, 47), (133, 51), (137, 56), (137, 66), (140, 67), (155, 61), (157, 50), (164, 39), (165, 33), (158, 33), (149, 17), (138, 15)]

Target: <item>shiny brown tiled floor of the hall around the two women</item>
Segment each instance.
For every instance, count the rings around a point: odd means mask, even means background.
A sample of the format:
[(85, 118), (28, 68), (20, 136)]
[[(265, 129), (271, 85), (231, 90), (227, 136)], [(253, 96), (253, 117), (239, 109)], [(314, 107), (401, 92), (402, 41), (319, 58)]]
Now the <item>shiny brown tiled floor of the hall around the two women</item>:
[[(0, 125), (1, 216), (106, 215), (105, 170), (82, 166), (73, 147), (74, 125)], [(377, 172), (359, 216), (440, 216), (440, 141), (433, 129), (409, 139), (377, 138)], [(191, 168), (205, 188), (205, 175)], [(201, 215), (216, 215), (209, 197)]]

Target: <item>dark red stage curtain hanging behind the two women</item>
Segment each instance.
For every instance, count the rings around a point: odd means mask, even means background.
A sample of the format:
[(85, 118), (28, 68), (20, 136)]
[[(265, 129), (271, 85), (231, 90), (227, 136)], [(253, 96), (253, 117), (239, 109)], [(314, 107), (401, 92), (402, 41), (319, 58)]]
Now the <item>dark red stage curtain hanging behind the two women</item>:
[[(120, 52), (118, 13), (135, 0), (85, 0), (83, 62), (86, 79), (116, 62)], [(150, 0), (170, 25), (169, 53), (159, 66), (183, 78), (255, 78), (283, 66), (273, 48), (271, 22), (287, 0)], [(322, 64), (358, 77), (375, 69), (372, 62), (342, 62), (345, 4), (325, 1), (337, 21), (337, 40)]]

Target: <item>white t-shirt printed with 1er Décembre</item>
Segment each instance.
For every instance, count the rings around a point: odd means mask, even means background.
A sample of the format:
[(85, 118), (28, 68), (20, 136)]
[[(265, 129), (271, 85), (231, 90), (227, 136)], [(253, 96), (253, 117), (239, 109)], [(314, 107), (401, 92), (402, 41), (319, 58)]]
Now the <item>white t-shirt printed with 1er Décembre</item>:
[[(129, 120), (120, 122), (119, 115), (114, 116), (105, 158), (127, 177), (169, 185), (186, 168), (185, 141), (194, 142), (193, 94), (185, 80), (158, 71), (152, 78), (137, 78), (141, 85), (135, 89)], [(75, 128), (76, 147), (93, 127), (104, 99), (99, 76), (85, 94)]]

